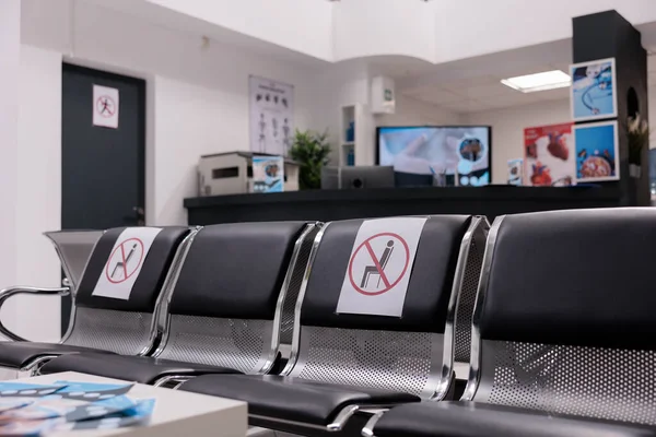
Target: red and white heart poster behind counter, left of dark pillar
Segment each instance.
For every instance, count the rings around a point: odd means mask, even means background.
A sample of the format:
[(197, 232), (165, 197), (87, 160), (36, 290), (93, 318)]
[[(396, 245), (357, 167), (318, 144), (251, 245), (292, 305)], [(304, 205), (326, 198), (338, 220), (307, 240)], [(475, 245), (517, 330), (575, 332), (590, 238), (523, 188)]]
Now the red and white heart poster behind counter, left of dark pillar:
[(524, 129), (524, 185), (567, 187), (575, 179), (572, 123)]

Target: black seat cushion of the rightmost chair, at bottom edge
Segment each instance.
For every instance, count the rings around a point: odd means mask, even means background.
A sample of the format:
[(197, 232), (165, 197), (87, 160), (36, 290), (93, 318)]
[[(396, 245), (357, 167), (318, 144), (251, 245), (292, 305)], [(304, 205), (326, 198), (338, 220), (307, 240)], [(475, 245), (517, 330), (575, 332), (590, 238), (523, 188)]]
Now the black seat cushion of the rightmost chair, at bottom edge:
[(656, 429), (471, 402), (422, 402), (391, 409), (376, 437), (646, 437)]

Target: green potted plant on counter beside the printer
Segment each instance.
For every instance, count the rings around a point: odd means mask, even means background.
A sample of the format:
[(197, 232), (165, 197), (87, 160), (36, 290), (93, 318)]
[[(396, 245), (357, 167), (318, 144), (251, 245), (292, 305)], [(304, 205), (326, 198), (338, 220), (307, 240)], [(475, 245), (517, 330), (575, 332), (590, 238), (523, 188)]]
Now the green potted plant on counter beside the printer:
[(321, 168), (330, 161), (328, 132), (296, 129), (290, 156), (298, 163), (298, 185), (302, 190), (321, 188)]

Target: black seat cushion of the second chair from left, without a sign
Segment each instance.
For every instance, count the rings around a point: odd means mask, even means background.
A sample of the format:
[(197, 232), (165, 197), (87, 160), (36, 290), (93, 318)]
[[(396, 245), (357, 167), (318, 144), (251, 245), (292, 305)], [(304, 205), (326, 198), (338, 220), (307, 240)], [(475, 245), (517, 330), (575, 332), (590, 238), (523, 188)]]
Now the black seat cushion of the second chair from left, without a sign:
[(238, 374), (239, 371), (202, 364), (159, 359), (147, 356), (124, 356), (87, 353), (73, 356), (60, 356), (42, 367), (42, 374), (79, 371), (106, 378), (124, 379), (140, 383), (153, 383), (169, 376), (195, 376), (203, 374)]

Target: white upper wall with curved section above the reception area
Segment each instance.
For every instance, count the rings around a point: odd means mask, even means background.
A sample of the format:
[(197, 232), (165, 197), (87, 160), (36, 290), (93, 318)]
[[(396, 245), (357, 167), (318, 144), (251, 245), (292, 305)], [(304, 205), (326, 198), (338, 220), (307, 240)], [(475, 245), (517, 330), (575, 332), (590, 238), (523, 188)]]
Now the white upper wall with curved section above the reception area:
[(444, 63), (553, 43), (572, 37), (572, 17), (612, 9), (636, 25), (656, 22), (653, 0), (148, 1), (333, 62), (399, 55)]

